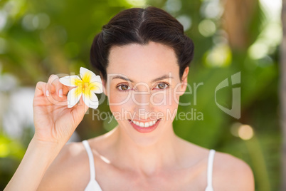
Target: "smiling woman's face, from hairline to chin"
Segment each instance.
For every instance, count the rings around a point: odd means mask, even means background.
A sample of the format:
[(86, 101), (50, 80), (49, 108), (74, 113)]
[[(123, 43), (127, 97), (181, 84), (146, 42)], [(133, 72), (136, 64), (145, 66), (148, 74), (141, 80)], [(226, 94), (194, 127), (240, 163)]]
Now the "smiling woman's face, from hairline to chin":
[[(113, 46), (109, 61), (105, 94), (120, 130), (139, 144), (153, 143), (172, 128), (189, 67), (180, 81), (174, 51), (152, 41)], [(156, 128), (138, 128), (136, 122)]]

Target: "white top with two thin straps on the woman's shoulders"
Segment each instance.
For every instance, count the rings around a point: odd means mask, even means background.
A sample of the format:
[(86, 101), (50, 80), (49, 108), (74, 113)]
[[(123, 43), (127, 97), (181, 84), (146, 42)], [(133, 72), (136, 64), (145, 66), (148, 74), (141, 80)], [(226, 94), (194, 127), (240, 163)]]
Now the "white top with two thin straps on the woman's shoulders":
[[(90, 145), (88, 144), (88, 140), (83, 140), (83, 145), (85, 146), (85, 150), (88, 153), (88, 159), (90, 161), (90, 182), (88, 182), (88, 186), (85, 187), (85, 191), (102, 191), (100, 185), (95, 180), (95, 163), (93, 160), (92, 151), (90, 149)], [(208, 154), (208, 171), (207, 171), (207, 182), (208, 185), (205, 191), (213, 191), (212, 185), (212, 174), (213, 174), (213, 157), (216, 150), (211, 149)]]

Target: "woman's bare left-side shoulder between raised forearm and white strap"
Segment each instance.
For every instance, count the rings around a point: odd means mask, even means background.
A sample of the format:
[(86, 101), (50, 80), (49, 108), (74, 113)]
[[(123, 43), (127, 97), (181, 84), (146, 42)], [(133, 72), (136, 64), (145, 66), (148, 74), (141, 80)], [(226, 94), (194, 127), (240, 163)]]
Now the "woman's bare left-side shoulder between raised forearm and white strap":
[(88, 184), (88, 155), (83, 143), (67, 143), (48, 167), (38, 190), (83, 190)]

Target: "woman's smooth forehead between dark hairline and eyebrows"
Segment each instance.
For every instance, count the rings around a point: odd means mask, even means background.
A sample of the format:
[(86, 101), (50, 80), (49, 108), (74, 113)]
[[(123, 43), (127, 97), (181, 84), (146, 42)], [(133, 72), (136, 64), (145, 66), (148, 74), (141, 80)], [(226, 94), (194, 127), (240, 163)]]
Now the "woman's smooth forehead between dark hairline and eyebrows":
[(129, 78), (147, 80), (179, 73), (176, 54), (169, 46), (150, 41), (147, 45), (132, 43), (110, 49), (107, 73), (119, 73)]

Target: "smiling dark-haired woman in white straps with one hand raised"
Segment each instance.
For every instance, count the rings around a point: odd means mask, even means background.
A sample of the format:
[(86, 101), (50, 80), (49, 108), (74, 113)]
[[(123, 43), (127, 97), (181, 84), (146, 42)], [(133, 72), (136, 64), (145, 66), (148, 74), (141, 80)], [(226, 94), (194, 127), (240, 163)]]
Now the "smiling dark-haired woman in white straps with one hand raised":
[(191, 39), (166, 11), (149, 6), (114, 16), (95, 36), (90, 61), (120, 115), (117, 127), (65, 144), (88, 107), (82, 98), (73, 108), (49, 101), (67, 100), (70, 89), (58, 76), (37, 83), (35, 135), (6, 190), (254, 190), (245, 162), (174, 134), (193, 55)]

